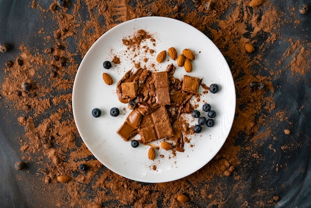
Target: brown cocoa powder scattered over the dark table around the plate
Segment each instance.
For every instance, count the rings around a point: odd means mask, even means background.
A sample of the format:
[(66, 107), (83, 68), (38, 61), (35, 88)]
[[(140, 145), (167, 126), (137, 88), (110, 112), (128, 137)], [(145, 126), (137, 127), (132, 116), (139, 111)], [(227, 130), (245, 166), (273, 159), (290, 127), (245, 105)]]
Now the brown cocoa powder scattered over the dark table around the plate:
[[(232, 193), (236, 193), (240, 207), (248, 207), (247, 201), (238, 194), (247, 186), (242, 171), (247, 167), (243, 167), (241, 161), (262, 160), (258, 149), (261, 141), (273, 134), (269, 127), (270, 120), (286, 122), (291, 126), (285, 111), (275, 112), (274, 91), (277, 86), (273, 85), (273, 80), (281, 76), (282, 71), (274, 67), (286, 62), (293, 76), (306, 74), (310, 66), (310, 43), (279, 35), (280, 27), (286, 24), (282, 20), (284, 14), (269, 1), (254, 8), (249, 7), (247, 1), (235, 0), (219, 0), (209, 5), (205, 5), (205, 1), (195, 3), (194, 0), (66, 2), (66, 6), (57, 8), (55, 5), (40, 5), (40, 1), (35, 0), (30, 3), (31, 9), (40, 13), (42, 18), (51, 15), (55, 23), (51, 34), (45, 33), (44, 28), (38, 31), (38, 34), (46, 35), (45, 44), (46, 48), (49, 46), (49, 53), (33, 49), (27, 43), (15, 42), (19, 55), (12, 58), (12, 66), (3, 68), (3, 82), (0, 85), (1, 99), (10, 105), (16, 122), (25, 129), (19, 139), (22, 160), (36, 163), (37, 172), (42, 173), (37, 176), (40, 182), (36, 186), (51, 191), (51, 195), (57, 198), (57, 207), (179, 207), (181, 204), (176, 200), (179, 194), (185, 194), (190, 199), (187, 202), (189, 207), (226, 207), (223, 190), (228, 188), (227, 180), (234, 180), (237, 183), (231, 187)], [(51, 1), (51, 4), (54, 3)], [(86, 12), (83, 17), (82, 12)], [(84, 15), (87, 19), (83, 19), (86, 18)], [(112, 27), (126, 20), (150, 15), (180, 19), (206, 34), (226, 57), (237, 92), (232, 130), (215, 158), (184, 179), (159, 184), (131, 181), (105, 168), (80, 139), (72, 115), (71, 92), (80, 62), (77, 57), (83, 58), (91, 45)], [(293, 21), (298, 23), (297, 19)], [(264, 41), (258, 38), (262, 38), (262, 34), (266, 37)], [(140, 34), (138, 31), (136, 35), (130, 39), (133, 36), (130, 33), (123, 40), (124, 45), (129, 45), (129, 51), (139, 47), (142, 38), (155, 42), (151, 34)], [(278, 38), (288, 39), (283, 57), (275, 63), (262, 64), (265, 61), (263, 53)], [(70, 40), (77, 43), (74, 51), (69, 47)], [(247, 42), (254, 45), (255, 50), (251, 54), (244, 49)], [(156, 43), (154, 46), (156, 48)], [(155, 51), (154, 48), (146, 48), (146, 52), (153, 54)], [(114, 64), (120, 63), (118, 56), (111, 60)], [(22, 60), (23, 64), (18, 64), (18, 60)], [(269, 71), (267, 67), (273, 70), (270, 73), (258, 72)], [(55, 76), (50, 76), (51, 72)], [(21, 89), (25, 82), (30, 89)], [(265, 87), (263, 90), (250, 89), (250, 82), (264, 83)], [(205, 86), (204, 90), (207, 93), (208, 87)], [(267, 119), (266, 112), (274, 112), (274, 116)], [(265, 131), (259, 133), (262, 128)], [(283, 150), (287, 148), (290, 147)], [(269, 149), (273, 151), (272, 146)], [(192, 151), (195, 151), (195, 146)], [(248, 152), (249, 158), (239, 157), (242, 152)], [(85, 172), (79, 171), (80, 164), (86, 164)], [(152, 168), (156, 170), (156, 166)], [(72, 180), (59, 184), (57, 177), (60, 175), (70, 176)], [(271, 193), (272, 199), (275, 192), (274, 187), (271, 189), (266, 192)], [(260, 195), (260, 191), (255, 194)], [(258, 202), (258, 207), (273, 205), (273, 200)]]

